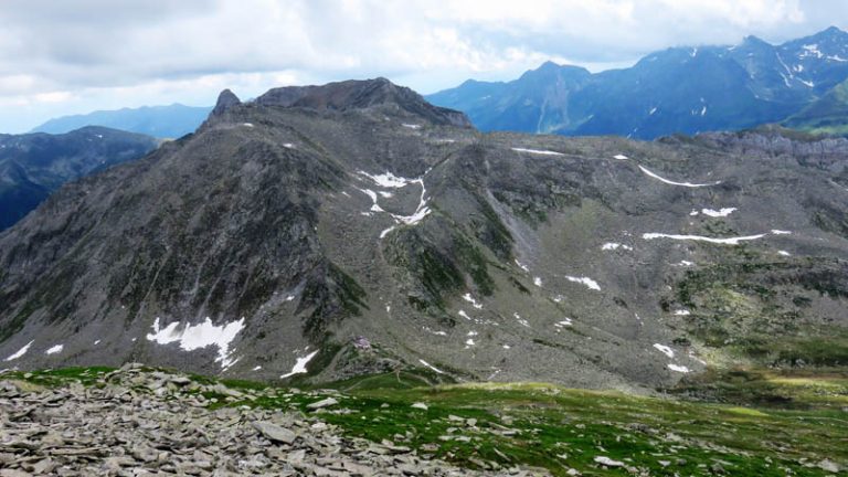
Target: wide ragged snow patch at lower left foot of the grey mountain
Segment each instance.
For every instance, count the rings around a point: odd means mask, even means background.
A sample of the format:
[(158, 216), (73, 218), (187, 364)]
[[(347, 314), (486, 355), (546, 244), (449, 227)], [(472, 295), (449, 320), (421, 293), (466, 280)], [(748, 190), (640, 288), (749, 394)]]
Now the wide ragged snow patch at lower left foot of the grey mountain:
[(218, 358), (215, 358), (215, 362), (220, 362), (222, 368), (229, 368), (235, 363), (235, 361), (230, 359), (230, 343), (244, 329), (244, 318), (221, 326), (214, 326), (212, 320), (206, 317), (203, 322), (198, 325), (186, 324), (182, 331), (177, 330), (179, 327), (180, 322), (173, 321), (160, 329), (159, 318), (157, 317), (151, 326), (153, 332), (147, 335), (147, 340), (155, 341), (158, 344), (179, 342), (183, 351), (216, 346)]

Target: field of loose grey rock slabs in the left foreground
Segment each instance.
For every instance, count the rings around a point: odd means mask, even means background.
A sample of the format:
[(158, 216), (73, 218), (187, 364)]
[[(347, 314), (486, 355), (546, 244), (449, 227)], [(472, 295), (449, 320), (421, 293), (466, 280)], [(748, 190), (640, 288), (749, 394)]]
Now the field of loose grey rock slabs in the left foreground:
[(218, 407), (218, 398), (204, 395), (252, 401), (263, 393), (308, 392), (236, 391), (137, 365), (87, 384), (0, 381), (0, 477), (547, 475), (520, 468), (475, 471), (389, 441), (343, 437), (320, 418), (346, 412), (326, 392), (315, 394), (306, 415)]

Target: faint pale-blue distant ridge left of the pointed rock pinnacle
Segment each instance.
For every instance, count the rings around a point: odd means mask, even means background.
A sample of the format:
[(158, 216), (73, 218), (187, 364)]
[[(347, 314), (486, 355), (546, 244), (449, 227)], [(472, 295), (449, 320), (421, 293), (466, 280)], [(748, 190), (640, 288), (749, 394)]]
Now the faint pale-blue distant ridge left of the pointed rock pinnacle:
[(181, 104), (99, 110), (51, 119), (34, 128), (32, 132), (64, 134), (85, 126), (103, 126), (158, 138), (179, 138), (193, 132), (211, 110), (211, 106), (193, 107)]

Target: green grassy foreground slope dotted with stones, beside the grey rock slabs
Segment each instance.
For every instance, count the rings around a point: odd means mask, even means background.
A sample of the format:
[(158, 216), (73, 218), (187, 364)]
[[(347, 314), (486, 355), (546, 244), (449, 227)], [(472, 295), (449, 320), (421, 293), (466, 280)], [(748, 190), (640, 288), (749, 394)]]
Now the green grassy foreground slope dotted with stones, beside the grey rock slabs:
[[(41, 385), (68, 381), (93, 384), (104, 371), (70, 369), (3, 378)], [(420, 454), (469, 467), (522, 464), (545, 467), (554, 475), (565, 475), (569, 468), (583, 475), (828, 475), (812, 465), (824, 458), (848, 463), (848, 413), (844, 411), (848, 406), (848, 377), (839, 373), (761, 375), (735, 384), (725, 379), (728, 386), (740, 391), (742, 403), (748, 395), (745, 386), (770, 386), (772, 393), (791, 393), (796, 402), (806, 402), (803, 410), (776, 407), (774, 403), (752, 407), (643, 398), (550, 384), (422, 386), (426, 378), (405, 372), (336, 383), (328, 388), (343, 392), (344, 398), (335, 409), (353, 412), (325, 412), (321, 416), (350, 435), (390, 439)], [(224, 383), (254, 395), (234, 400), (205, 392), (216, 401), (213, 406), (306, 411), (306, 404), (335, 393)], [(412, 407), (417, 402), (425, 403), (427, 410)], [(476, 423), (469, 425), (458, 417)], [(596, 456), (623, 460), (629, 470), (604, 468), (594, 463)]]

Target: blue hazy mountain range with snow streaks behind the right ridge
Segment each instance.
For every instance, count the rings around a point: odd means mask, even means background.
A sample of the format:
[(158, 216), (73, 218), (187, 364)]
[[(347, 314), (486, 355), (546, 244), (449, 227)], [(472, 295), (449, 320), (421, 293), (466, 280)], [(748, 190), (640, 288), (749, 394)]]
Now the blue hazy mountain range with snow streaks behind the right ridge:
[(483, 130), (653, 139), (789, 117), (786, 125), (812, 129), (823, 112), (833, 123), (827, 105), (844, 105), (846, 78), (848, 33), (831, 26), (780, 45), (748, 36), (734, 46), (672, 47), (597, 74), (548, 62), (508, 83), (469, 80), (427, 99)]

